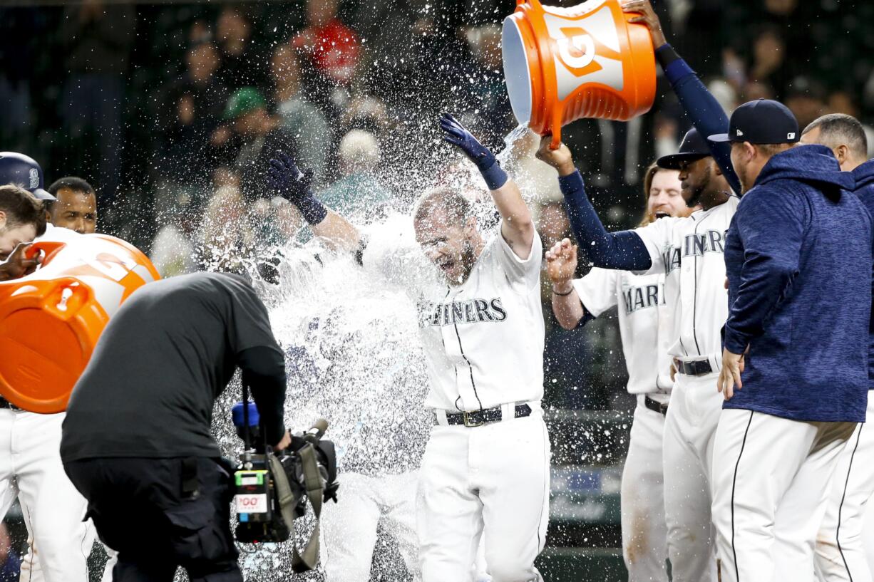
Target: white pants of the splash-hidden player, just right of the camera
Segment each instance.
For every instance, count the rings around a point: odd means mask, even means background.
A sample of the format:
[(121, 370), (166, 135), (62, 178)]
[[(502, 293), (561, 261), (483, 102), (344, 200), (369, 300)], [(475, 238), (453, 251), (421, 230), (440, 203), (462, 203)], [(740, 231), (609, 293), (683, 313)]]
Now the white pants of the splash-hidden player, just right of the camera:
[[(407, 572), (420, 580), (419, 539), (416, 536), (416, 488), (419, 475), (403, 473), (369, 477), (343, 473), (343, 502), (329, 503), (322, 513), (323, 563), (326, 582), (367, 582), (371, 579), (377, 527), (398, 541)], [(390, 572), (389, 572), (390, 573)]]

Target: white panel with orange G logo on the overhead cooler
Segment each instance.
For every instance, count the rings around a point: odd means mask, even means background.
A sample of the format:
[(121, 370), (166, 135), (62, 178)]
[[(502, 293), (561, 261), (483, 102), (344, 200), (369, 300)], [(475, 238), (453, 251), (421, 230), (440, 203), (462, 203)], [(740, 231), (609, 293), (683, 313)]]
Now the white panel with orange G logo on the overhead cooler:
[(586, 17), (569, 20), (546, 13), (544, 22), (556, 42), (555, 75), (558, 100), (584, 83), (624, 87), (619, 32), (610, 7), (602, 5)]

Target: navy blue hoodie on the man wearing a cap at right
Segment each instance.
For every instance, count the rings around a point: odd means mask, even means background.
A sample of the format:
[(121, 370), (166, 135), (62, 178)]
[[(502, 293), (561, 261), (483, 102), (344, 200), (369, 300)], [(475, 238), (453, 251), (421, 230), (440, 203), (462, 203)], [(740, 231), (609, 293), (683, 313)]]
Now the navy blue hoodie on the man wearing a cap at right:
[(831, 150), (773, 156), (725, 238), (725, 349), (746, 355), (725, 408), (864, 422), (871, 318), (871, 215)]

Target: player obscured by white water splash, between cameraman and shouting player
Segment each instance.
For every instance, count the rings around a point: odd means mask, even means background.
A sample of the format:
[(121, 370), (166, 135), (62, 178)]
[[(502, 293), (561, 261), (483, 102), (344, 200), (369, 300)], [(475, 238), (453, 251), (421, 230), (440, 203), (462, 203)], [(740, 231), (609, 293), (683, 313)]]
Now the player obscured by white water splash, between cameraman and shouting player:
[[(418, 330), (404, 309), (398, 308), (408, 301), (402, 293), (387, 293), (381, 280), (375, 286), (370, 274), (351, 268), (357, 267), (351, 261), (331, 264), (325, 256), (322, 261), (333, 274), (342, 269), (343, 281), (350, 288), (363, 290), (357, 301), (308, 308), (305, 344), (287, 350), (288, 361), (305, 371), (291, 375), (294, 393), (308, 403), (307, 410), (296, 412), (295, 417), (331, 411), (331, 438), (337, 446), (343, 502), (331, 504), (322, 513), (325, 580), (370, 580), (378, 531), (383, 530), (396, 541), (403, 565), (385, 560), (382, 565), (390, 571), (396, 568), (395, 572), (403, 572), (406, 566), (418, 581), (416, 485), (433, 424), (421, 408), (427, 378), (421, 357), (416, 357), (420, 350), (410, 345), (411, 334), (414, 340)], [(294, 301), (324, 304), (327, 286), (334, 278), (326, 275), (321, 281), (295, 293)], [(366, 322), (361, 322), (363, 311), (371, 314)], [(356, 342), (362, 329), (378, 340), (364, 345)], [(408, 354), (408, 364), (399, 361), (399, 350)], [(316, 365), (316, 357), (329, 364)], [(350, 398), (353, 387), (354, 398)]]

